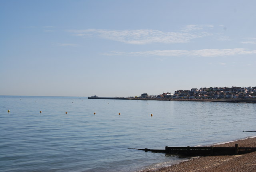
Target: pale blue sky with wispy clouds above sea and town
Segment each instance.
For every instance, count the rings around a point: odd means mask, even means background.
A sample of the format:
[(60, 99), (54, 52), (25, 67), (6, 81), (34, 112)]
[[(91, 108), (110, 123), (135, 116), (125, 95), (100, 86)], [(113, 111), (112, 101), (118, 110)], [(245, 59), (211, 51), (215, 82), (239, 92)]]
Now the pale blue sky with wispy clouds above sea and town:
[(255, 0), (1, 0), (0, 95), (256, 86)]

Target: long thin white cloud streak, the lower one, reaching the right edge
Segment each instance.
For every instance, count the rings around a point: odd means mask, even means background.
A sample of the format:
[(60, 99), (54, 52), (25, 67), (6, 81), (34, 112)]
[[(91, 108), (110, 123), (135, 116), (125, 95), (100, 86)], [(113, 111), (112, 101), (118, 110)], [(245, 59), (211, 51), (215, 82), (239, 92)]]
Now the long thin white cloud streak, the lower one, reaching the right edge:
[(144, 52), (111, 52), (103, 55), (127, 55), (127, 56), (193, 56), (193, 57), (216, 57), (233, 56), (238, 54), (256, 54), (256, 50), (246, 50), (244, 48), (233, 49), (202, 49), (202, 50), (154, 50)]

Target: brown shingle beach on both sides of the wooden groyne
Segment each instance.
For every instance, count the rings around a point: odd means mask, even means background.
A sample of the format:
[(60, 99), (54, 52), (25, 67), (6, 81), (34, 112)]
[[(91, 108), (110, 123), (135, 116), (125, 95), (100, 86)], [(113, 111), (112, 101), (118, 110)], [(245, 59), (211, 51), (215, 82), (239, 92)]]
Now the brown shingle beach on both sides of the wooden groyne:
[[(256, 147), (256, 137), (218, 144), (218, 147)], [(173, 166), (140, 172), (256, 172), (256, 152), (242, 155), (205, 156), (192, 158)]]

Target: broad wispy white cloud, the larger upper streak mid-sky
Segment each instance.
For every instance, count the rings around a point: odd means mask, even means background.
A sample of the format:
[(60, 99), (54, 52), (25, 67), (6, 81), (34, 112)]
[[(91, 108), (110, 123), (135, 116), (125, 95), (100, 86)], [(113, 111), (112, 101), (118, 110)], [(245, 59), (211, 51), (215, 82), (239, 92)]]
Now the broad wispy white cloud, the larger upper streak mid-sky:
[(187, 43), (195, 38), (212, 36), (204, 32), (204, 28), (212, 28), (212, 25), (188, 25), (177, 32), (162, 32), (160, 30), (140, 29), (140, 30), (104, 30), (104, 29), (87, 29), (87, 30), (68, 30), (74, 36), (98, 36), (100, 38), (124, 42), (126, 44), (154, 44), (154, 43)]

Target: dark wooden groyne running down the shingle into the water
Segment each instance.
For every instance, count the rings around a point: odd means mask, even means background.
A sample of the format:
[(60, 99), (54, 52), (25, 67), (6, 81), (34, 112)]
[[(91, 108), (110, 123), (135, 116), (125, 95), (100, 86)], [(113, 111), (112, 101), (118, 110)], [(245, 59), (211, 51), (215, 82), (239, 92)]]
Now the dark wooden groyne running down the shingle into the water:
[(159, 149), (137, 149), (144, 150), (145, 152), (162, 152), (166, 154), (181, 154), (186, 156), (214, 156), (214, 155), (237, 155), (245, 154), (256, 151), (256, 148), (252, 147), (239, 147), (235, 144), (235, 147), (168, 147), (164, 150)]

